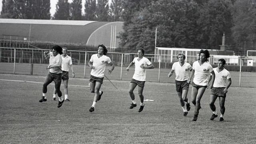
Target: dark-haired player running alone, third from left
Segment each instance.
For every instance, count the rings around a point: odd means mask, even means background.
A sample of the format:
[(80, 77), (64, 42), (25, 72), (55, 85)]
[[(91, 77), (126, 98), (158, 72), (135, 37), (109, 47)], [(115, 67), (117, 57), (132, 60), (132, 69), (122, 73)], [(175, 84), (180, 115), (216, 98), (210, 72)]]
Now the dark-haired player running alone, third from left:
[(110, 60), (108, 56), (106, 56), (108, 50), (106, 46), (103, 44), (98, 46), (98, 54), (93, 54), (91, 56), (90, 61), (88, 62), (88, 66), (90, 67), (91, 76), (90, 76), (90, 90), (94, 93), (94, 99), (91, 108), (89, 109), (90, 112), (94, 111), (95, 104), (98, 100), (100, 100), (103, 92), (100, 91), (100, 87), (103, 83), (103, 78), (105, 74), (106, 64), (111, 66), (110, 70), (108, 70), (108, 74), (114, 70), (115, 66)]

